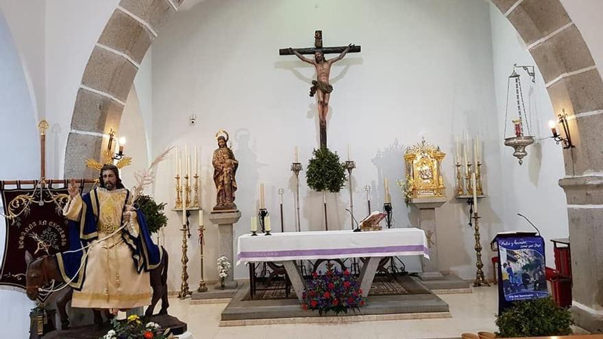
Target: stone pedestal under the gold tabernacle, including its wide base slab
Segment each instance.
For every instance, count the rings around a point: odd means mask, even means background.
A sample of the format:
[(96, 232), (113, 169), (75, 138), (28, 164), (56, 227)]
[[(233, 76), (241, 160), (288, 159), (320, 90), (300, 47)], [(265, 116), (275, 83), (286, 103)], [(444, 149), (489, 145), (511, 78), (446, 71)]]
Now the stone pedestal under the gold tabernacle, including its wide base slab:
[(429, 260), (421, 258), (423, 272), (419, 274), (421, 284), (430, 290), (467, 290), (469, 282), (452, 273), (442, 273), (438, 261), (436, 208), (446, 202), (445, 197), (413, 198), (410, 203), (419, 209), (419, 228), (425, 231), (429, 248)]

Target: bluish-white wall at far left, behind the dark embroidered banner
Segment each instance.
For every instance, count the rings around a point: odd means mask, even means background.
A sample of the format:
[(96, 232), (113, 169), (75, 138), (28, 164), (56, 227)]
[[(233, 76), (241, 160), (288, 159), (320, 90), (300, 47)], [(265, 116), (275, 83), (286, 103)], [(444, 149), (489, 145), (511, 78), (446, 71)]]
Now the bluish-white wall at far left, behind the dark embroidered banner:
[[(0, 13), (0, 179), (34, 179), (40, 175), (40, 142), (23, 66), (8, 24)], [(0, 201), (0, 211), (4, 208)], [(4, 253), (5, 219), (0, 217), (0, 253)], [(23, 338), (33, 303), (25, 293), (0, 290), (0, 328), (5, 338)]]

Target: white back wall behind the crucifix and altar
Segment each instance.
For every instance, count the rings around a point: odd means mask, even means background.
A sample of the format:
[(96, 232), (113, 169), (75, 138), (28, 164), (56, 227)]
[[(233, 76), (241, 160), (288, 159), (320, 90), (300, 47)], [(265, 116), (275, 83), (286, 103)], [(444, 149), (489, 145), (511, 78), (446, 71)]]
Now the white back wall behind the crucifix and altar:
[[(249, 228), (260, 182), (276, 229), (276, 191), (285, 188), (285, 229), (293, 231), (293, 149), (299, 146), (305, 167), (318, 144), (315, 101), (308, 97), (314, 69), (293, 56), (279, 56), (278, 49), (313, 45), (315, 29), (323, 30), (325, 45), (362, 45), (362, 53), (347, 55), (332, 69), (328, 122), (334, 151), (347, 158), (347, 143), (352, 145), (356, 216), (367, 210), (362, 187), (371, 184), (378, 208), (388, 177), (395, 227), (416, 227), (417, 211), (406, 208), (393, 184), (404, 177), (404, 147), (425, 136), (452, 154), (453, 135), (469, 130), (484, 140), (489, 194), (482, 203), (484, 242), (503, 229), (489, 5), (482, 1), (204, 1), (177, 13), (153, 44), (153, 153), (185, 142), (201, 147), (204, 209), (215, 199), (214, 134), (227, 129), (241, 163), (236, 203), (243, 217), (236, 236)], [(189, 114), (199, 118), (194, 127), (188, 125)], [(155, 190), (158, 199), (172, 203), (173, 167), (161, 166)], [(444, 176), (451, 198), (437, 212), (441, 268), (469, 278), (475, 270), (473, 230), (465, 203), (452, 198), (452, 156), (445, 159)], [(308, 190), (304, 172), (301, 190), (302, 229), (323, 229), (322, 196)], [(347, 188), (329, 194), (328, 204), (329, 229), (349, 229)], [(170, 253), (179, 253), (180, 216), (170, 218), (167, 244)], [(205, 268), (209, 279), (216, 279), (217, 230), (207, 220), (206, 225)], [(198, 251), (191, 240), (191, 284), (199, 278)], [(180, 268), (176, 256), (172, 268)], [(417, 258), (406, 261), (410, 271), (419, 270)], [(237, 268), (237, 277), (245, 275)], [(175, 289), (180, 271), (173, 269), (170, 280)]]

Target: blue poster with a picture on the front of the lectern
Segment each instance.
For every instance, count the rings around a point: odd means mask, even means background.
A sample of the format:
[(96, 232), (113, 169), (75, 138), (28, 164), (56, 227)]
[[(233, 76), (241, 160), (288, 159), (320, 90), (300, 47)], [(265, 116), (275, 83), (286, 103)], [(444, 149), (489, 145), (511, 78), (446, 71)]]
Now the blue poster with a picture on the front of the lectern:
[(540, 236), (498, 238), (500, 289), (505, 301), (548, 296), (544, 239)]

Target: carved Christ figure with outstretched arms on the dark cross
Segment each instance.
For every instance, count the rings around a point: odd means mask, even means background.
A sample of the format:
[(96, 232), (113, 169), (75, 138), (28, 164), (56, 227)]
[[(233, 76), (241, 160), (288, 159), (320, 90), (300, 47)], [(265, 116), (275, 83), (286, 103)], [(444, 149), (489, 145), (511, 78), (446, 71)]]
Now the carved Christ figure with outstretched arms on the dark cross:
[(289, 51), (294, 53), (299, 60), (308, 62), (316, 68), (316, 80), (312, 80), (312, 87), (310, 87), (310, 97), (317, 96), (319, 124), (320, 124), (320, 139), (321, 147), (327, 147), (327, 113), (329, 112), (329, 99), (333, 86), (330, 84), (331, 65), (339, 60), (343, 59), (345, 54), (354, 45), (349, 44), (347, 48), (336, 58), (330, 60), (325, 59), (325, 55), (321, 51), (314, 53), (314, 60), (304, 57), (304, 55), (295, 51), (295, 49), (289, 47)]

